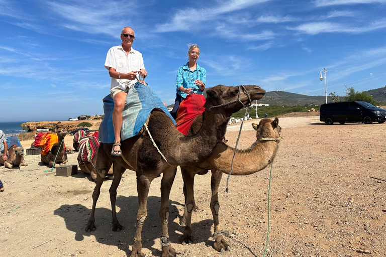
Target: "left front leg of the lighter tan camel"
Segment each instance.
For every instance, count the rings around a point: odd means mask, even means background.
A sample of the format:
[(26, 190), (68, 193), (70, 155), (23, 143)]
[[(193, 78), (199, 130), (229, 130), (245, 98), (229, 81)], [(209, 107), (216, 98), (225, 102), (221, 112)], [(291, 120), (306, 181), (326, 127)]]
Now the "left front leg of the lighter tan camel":
[[(191, 212), (194, 209), (195, 196), (194, 196), (194, 185), (195, 185), (195, 175), (194, 172), (189, 172), (181, 168), (183, 183), (186, 186), (186, 198), (185, 198), (185, 211), (183, 215), (185, 216), (185, 228), (183, 230), (183, 235), (179, 238), (179, 241), (185, 245), (191, 244), (195, 238), (191, 235)], [(183, 217), (182, 217), (183, 218)], [(181, 222), (180, 222), (181, 223)]]

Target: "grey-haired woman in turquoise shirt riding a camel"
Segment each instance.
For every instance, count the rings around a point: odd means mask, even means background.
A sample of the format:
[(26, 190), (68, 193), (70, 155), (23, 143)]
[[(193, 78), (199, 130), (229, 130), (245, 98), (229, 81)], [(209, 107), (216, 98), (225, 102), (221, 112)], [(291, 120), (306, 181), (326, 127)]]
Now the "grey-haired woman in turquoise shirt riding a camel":
[(196, 44), (191, 45), (187, 51), (187, 57), (189, 58), (189, 61), (178, 68), (177, 78), (175, 79), (177, 93), (174, 107), (170, 111), (170, 114), (174, 119), (176, 119), (179, 104), (186, 95), (191, 94), (191, 92), (203, 94), (205, 89), (207, 71), (197, 64), (197, 59), (200, 57), (200, 47)]

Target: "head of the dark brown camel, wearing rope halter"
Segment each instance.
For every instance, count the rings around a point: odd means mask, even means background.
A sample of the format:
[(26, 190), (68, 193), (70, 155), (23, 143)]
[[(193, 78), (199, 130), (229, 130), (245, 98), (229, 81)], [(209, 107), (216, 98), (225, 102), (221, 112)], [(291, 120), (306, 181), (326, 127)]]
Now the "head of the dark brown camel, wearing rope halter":
[[(241, 109), (243, 104), (248, 105), (253, 100), (261, 99), (265, 94), (265, 90), (256, 85), (217, 85), (215, 87), (209, 88), (206, 92), (207, 98), (204, 107), (208, 108), (211, 106), (229, 103), (221, 106), (221, 108), (225, 111), (231, 111), (231, 113), (233, 113), (235, 109)], [(237, 100), (238, 98), (243, 104)]]

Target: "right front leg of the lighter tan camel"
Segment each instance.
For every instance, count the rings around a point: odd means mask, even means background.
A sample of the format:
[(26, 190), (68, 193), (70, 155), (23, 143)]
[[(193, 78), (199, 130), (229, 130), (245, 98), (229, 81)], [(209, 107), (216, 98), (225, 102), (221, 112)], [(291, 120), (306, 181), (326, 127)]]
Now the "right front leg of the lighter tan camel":
[(223, 176), (223, 173), (221, 171), (218, 171), (216, 169), (212, 170), (212, 179), (211, 179), (211, 189), (212, 189), (212, 198), (211, 198), (211, 210), (213, 215), (213, 221), (215, 225), (215, 232), (213, 234), (213, 238), (215, 239), (215, 243), (213, 244), (213, 247), (217, 251), (224, 252), (225, 250), (229, 250), (230, 246), (225, 240), (225, 236), (223, 231), (220, 229), (220, 222), (219, 222), (219, 209), (220, 209), (220, 203), (219, 203), (219, 186), (221, 182), (221, 177)]

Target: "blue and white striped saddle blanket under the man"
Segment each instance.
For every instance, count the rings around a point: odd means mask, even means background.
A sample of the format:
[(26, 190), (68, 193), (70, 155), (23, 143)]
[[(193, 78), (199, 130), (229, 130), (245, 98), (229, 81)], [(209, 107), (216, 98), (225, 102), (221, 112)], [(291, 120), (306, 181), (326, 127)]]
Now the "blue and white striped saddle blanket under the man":
[[(125, 140), (136, 136), (145, 124), (150, 112), (154, 108), (159, 108), (173, 120), (164, 103), (154, 92), (154, 90), (146, 83), (146, 85), (137, 82), (130, 88), (125, 107), (123, 109), (123, 122), (121, 129), (121, 140)], [(105, 117), (99, 127), (99, 140), (104, 144), (114, 143), (114, 127), (113, 127), (113, 109), (114, 101), (110, 95), (103, 98), (103, 110)]]

